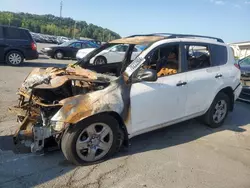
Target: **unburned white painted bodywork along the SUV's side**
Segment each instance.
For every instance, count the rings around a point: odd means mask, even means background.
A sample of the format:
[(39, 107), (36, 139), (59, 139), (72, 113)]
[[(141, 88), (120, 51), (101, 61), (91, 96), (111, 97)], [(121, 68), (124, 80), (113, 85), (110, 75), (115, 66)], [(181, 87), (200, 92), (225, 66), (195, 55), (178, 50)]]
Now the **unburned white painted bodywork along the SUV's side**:
[[(146, 55), (159, 45), (178, 41), (204, 42), (200, 39), (166, 39), (154, 43), (138, 58), (145, 59)], [(236, 88), (240, 83), (240, 70), (234, 66), (235, 60), (231, 48), (215, 41), (209, 43), (227, 47), (228, 62), (225, 65), (160, 77), (155, 82), (140, 82), (132, 85), (131, 125), (128, 125), (131, 127), (128, 130), (130, 137), (203, 115), (221, 89)], [(138, 61), (136, 66), (130, 65), (126, 73), (131, 75), (132, 70), (135, 71), (142, 63)], [(222, 77), (215, 78), (217, 74), (222, 74)], [(187, 85), (177, 87), (176, 84), (180, 81), (187, 82)], [(235, 91), (235, 100), (240, 92), (241, 86)]]

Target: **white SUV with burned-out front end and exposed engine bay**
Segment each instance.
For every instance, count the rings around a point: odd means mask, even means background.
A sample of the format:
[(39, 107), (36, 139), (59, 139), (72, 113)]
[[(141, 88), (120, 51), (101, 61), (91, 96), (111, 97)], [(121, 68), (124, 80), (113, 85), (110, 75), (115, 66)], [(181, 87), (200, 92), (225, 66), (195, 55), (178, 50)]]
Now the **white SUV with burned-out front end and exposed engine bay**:
[[(19, 89), (19, 106), (10, 109), (21, 123), (15, 143), (37, 152), (54, 139), (67, 160), (82, 165), (107, 159), (129, 138), (191, 118), (220, 127), (241, 92), (241, 73), (223, 40), (203, 38), (135, 35), (65, 68), (35, 69)], [(129, 45), (120, 74), (100, 74), (112, 69), (91, 59), (118, 44)], [(131, 61), (140, 44), (148, 45)]]

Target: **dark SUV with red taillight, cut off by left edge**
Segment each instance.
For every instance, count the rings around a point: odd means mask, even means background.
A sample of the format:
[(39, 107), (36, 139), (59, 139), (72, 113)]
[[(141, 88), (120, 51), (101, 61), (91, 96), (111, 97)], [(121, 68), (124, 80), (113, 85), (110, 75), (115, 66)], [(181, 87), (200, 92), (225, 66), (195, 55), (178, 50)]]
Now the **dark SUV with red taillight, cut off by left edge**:
[(20, 65), (24, 59), (37, 59), (36, 42), (29, 30), (0, 25), (0, 61)]

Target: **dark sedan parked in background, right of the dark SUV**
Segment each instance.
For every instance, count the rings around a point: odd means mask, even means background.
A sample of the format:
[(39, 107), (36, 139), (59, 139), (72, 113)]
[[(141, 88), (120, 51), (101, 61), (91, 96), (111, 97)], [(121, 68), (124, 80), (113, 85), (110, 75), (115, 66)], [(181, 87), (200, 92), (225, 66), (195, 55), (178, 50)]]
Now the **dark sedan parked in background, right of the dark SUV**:
[(70, 40), (68, 42), (64, 42), (57, 46), (51, 46), (47, 48), (43, 48), (42, 53), (50, 56), (51, 58), (63, 59), (67, 58), (76, 58), (76, 53), (79, 49), (82, 48), (98, 48), (99, 46), (90, 41), (84, 40)]

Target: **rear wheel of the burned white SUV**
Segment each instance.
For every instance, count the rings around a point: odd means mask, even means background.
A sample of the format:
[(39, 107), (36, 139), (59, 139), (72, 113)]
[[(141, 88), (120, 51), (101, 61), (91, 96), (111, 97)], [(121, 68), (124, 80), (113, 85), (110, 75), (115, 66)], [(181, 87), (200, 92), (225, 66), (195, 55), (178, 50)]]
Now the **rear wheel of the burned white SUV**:
[(228, 114), (230, 100), (223, 92), (218, 93), (209, 110), (204, 115), (204, 122), (212, 128), (220, 127)]

